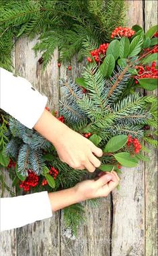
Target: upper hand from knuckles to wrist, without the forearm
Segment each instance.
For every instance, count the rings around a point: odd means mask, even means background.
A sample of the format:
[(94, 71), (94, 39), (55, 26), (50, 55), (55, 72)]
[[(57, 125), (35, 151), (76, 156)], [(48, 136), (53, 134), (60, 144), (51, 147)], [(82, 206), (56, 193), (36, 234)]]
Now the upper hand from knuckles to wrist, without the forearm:
[(62, 136), (54, 141), (54, 146), (60, 160), (74, 169), (94, 172), (100, 166), (100, 160), (96, 156), (102, 156), (102, 149), (67, 126), (64, 127)]

